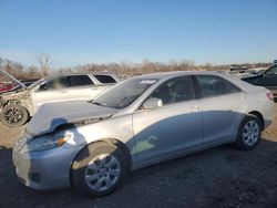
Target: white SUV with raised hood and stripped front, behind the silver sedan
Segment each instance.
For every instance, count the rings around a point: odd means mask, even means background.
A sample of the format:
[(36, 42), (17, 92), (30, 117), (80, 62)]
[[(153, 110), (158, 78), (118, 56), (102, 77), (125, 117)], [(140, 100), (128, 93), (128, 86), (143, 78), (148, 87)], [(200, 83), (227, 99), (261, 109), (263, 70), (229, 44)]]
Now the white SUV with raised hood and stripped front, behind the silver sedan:
[(41, 79), (28, 87), (10, 76), (20, 87), (1, 94), (0, 119), (8, 126), (20, 126), (44, 103), (89, 101), (120, 82), (114, 74), (68, 73)]

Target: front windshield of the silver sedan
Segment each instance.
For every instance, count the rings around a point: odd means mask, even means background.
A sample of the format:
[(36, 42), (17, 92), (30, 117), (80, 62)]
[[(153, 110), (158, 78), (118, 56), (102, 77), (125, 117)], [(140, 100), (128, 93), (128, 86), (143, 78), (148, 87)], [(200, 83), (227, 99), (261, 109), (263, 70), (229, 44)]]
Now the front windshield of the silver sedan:
[(92, 103), (112, 108), (123, 108), (133, 103), (155, 82), (154, 79), (131, 79), (100, 95)]

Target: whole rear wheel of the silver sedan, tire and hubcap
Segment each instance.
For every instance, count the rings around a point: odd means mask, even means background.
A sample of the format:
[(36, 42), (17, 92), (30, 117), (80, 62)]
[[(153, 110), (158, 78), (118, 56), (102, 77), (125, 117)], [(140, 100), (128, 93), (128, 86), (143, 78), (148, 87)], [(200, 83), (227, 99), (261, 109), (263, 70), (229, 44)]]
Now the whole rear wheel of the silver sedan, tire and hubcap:
[(242, 150), (254, 149), (261, 134), (261, 125), (259, 119), (254, 115), (247, 115), (239, 127), (236, 146)]

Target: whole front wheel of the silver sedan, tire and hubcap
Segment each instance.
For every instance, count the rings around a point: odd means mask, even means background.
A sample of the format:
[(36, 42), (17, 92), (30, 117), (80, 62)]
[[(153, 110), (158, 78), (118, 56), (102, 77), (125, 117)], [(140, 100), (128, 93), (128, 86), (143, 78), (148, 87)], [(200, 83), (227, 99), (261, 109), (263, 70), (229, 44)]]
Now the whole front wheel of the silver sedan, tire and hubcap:
[(116, 146), (107, 143), (89, 145), (76, 156), (71, 179), (81, 194), (104, 196), (114, 190), (127, 174), (127, 159)]

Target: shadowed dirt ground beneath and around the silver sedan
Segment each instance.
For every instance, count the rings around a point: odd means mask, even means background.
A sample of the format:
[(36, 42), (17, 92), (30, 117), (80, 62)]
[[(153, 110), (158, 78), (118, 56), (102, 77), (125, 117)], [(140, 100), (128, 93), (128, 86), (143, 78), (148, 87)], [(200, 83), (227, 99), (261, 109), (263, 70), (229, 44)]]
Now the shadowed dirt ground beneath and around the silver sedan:
[(20, 131), (0, 125), (0, 207), (277, 207), (277, 119), (255, 150), (227, 145), (147, 167), (98, 199), (19, 184), (11, 147)]

